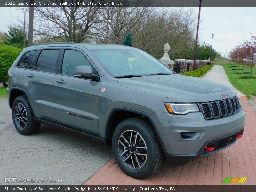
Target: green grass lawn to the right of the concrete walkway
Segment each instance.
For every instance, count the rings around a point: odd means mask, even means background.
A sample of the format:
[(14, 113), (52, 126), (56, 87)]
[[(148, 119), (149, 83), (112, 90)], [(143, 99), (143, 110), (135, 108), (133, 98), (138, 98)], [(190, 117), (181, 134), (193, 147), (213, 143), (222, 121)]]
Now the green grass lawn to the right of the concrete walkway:
[[(248, 99), (251, 98), (251, 95), (256, 95), (256, 79), (240, 79), (241, 76), (251, 76), (251, 68), (244, 66), (244, 72), (247, 74), (236, 74), (243, 72), (243, 70), (232, 70), (232, 69), (242, 69), (243, 65), (228, 60), (222, 61), (213, 61), (214, 65), (223, 65), (224, 70), (228, 76), (228, 79), (236, 89), (241, 91), (247, 96)], [(235, 66), (235, 67), (232, 67)], [(250, 73), (248, 73), (250, 72)], [(256, 66), (252, 68), (252, 76), (256, 76)]]

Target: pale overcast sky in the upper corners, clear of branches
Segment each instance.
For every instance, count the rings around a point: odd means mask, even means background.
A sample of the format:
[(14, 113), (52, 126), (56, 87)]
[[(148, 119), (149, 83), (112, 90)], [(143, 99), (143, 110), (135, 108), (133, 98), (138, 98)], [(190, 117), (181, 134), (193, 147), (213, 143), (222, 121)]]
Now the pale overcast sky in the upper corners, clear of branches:
[[(198, 13), (198, 7), (194, 10)], [(0, 7), (1, 20), (0, 31), (7, 31), (10, 21), (15, 22), (14, 16), (23, 17), (24, 13), (11, 8)], [(27, 15), (28, 16), (28, 15)], [(251, 33), (256, 35), (256, 7), (202, 7), (201, 18), (203, 22), (199, 26), (200, 42), (211, 44), (222, 56), (242, 42), (244, 38), (250, 38)]]

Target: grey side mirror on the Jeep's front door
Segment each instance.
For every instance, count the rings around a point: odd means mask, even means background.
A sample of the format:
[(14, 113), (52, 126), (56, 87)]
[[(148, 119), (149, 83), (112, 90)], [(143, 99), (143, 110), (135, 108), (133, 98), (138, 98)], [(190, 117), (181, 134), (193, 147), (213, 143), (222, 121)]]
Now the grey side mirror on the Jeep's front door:
[(92, 79), (95, 80), (98, 78), (98, 75), (92, 74), (92, 67), (88, 65), (76, 66), (74, 69), (74, 76), (83, 79)]

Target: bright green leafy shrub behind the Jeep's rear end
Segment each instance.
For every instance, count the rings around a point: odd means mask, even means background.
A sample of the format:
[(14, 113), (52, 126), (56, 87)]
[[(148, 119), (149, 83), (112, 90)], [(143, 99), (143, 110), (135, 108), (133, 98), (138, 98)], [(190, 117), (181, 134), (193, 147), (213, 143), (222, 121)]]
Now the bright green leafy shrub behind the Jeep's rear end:
[(7, 87), (7, 72), (22, 49), (10, 45), (0, 44), (0, 83)]

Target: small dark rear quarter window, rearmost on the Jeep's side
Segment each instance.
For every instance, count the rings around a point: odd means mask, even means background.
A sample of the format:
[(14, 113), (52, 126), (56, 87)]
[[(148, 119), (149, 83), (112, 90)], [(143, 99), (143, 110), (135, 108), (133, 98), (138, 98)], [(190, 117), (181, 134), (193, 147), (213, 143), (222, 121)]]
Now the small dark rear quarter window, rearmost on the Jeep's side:
[(36, 65), (36, 55), (38, 50), (26, 52), (20, 60), (18, 67), (26, 69), (34, 69)]

